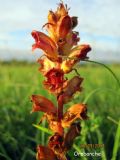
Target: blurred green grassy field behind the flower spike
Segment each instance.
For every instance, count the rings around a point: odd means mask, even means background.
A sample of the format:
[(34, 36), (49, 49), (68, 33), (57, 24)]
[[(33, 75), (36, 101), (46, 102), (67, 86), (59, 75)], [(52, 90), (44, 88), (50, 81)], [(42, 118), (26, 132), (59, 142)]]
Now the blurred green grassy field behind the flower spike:
[[(120, 80), (120, 65), (108, 65)], [(120, 160), (120, 88), (114, 77), (101, 66), (82, 65), (83, 93), (72, 103), (85, 102), (89, 120), (82, 122), (81, 136), (69, 152), (73, 159)], [(70, 76), (73, 76), (72, 73)], [(41, 113), (30, 114), (32, 94), (52, 99), (42, 86), (38, 65), (29, 63), (0, 64), (0, 160), (34, 160), (36, 145), (46, 144), (48, 134), (33, 126)], [(66, 106), (66, 107), (67, 107)], [(43, 124), (46, 126), (45, 122)], [(104, 144), (97, 149), (82, 144)], [(102, 157), (75, 157), (74, 151), (100, 152)]]

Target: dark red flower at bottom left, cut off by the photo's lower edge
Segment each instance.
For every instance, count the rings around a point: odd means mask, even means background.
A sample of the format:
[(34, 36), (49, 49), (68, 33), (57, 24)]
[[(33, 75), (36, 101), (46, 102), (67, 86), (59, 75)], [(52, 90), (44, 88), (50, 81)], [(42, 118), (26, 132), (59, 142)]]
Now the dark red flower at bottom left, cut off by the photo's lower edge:
[(54, 152), (45, 146), (38, 146), (37, 147), (37, 160), (57, 160), (56, 155)]

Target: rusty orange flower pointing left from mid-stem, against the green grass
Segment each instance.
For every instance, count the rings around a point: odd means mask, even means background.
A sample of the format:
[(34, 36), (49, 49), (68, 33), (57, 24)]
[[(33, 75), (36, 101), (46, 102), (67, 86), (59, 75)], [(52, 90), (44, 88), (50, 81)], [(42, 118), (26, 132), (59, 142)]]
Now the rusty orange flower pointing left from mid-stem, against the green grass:
[(47, 114), (57, 112), (57, 109), (54, 106), (54, 104), (49, 99), (41, 95), (32, 95), (31, 100), (33, 102), (32, 112), (42, 111)]

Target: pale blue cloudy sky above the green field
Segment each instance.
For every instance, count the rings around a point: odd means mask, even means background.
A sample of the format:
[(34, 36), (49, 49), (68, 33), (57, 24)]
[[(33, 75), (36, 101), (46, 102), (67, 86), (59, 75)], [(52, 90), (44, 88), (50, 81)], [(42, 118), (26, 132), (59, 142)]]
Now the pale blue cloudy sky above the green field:
[[(49, 10), (56, 10), (59, 0), (0, 0), (0, 59), (35, 60), (32, 30), (45, 32)], [(120, 0), (64, 0), (70, 16), (77, 16), (80, 44), (88, 43), (90, 59), (120, 62)]]

